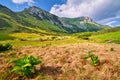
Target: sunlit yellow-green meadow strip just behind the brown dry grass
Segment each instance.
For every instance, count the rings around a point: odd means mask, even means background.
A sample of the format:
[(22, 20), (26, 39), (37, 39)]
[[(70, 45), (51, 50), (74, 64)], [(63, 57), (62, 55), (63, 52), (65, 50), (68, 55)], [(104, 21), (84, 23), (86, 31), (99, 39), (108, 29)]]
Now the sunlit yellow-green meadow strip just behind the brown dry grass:
[(81, 43), (82, 41), (76, 38), (68, 38), (61, 40), (52, 40), (52, 41), (20, 41), (20, 40), (7, 40), (1, 41), (1, 43), (10, 43), (13, 46), (43, 46), (45, 44), (51, 45), (65, 45), (65, 44), (74, 44)]

